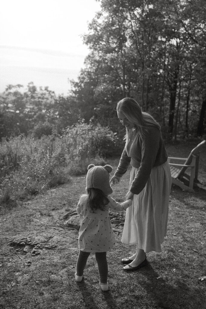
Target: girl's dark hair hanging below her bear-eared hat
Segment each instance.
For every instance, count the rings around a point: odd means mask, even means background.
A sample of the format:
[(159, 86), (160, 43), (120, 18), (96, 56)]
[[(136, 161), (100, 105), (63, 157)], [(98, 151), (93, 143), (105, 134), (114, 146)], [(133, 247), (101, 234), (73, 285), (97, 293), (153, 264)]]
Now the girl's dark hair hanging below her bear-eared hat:
[(95, 213), (95, 210), (106, 210), (106, 205), (109, 203), (109, 200), (104, 196), (102, 190), (90, 188), (87, 190), (88, 193), (88, 205), (91, 208), (91, 212)]

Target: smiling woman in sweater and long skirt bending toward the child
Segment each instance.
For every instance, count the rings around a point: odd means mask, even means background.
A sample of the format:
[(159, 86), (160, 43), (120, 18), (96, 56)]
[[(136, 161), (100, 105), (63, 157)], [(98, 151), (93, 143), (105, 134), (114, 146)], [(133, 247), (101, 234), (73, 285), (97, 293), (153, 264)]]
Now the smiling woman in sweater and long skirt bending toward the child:
[(171, 188), (170, 167), (160, 125), (151, 115), (142, 112), (139, 104), (124, 98), (117, 104), (117, 115), (126, 128), (126, 144), (111, 184), (132, 166), (129, 191), (132, 206), (126, 210), (122, 243), (137, 244), (137, 251), (122, 259), (125, 271), (147, 265), (146, 253), (161, 251), (167, 230), (168, 204)]

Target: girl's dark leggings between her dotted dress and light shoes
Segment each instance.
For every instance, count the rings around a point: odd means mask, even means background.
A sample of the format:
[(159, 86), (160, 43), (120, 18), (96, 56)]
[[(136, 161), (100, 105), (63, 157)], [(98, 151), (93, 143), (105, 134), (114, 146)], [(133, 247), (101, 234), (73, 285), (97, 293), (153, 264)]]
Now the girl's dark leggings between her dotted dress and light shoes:
[[(77, 258), (77, 276), (83, 276), (84, 268), (86, 266), (87, 259), (90, 252), (84, 252), (79, 250)], [(99, 277), (101, 283), (107, 283), (108, 265), (107, 265), (107, 252), (95, 252), (95, 258), (97, 260)]]

